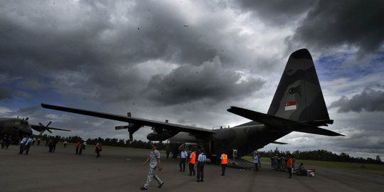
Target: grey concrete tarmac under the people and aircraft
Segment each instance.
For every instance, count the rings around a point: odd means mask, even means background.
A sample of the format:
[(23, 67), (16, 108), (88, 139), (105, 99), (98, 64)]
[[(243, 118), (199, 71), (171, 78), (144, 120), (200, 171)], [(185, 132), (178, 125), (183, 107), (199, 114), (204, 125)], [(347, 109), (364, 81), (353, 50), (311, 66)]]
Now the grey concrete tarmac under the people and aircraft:
[[(31, 146), (28, 155), (19, 155), (18, 146), (0, 149), (0, 191), (141, 191), (149, 166), (142, 166), (151, 150), (110, 149), (104, 147), (101, 157), (95, 158), (95, 146), (88, 145), (82, 155), (75, 147), (62, 145), (55, 153), (48, 147)], [(156, 171), (164, 181), (151, 181), (148, 191), (381, 191), (384, 176), (342, 171), (321, 167), (314, 177), (287, 178), (287, 171), (273, 171), (270, 164), (262, 164), (259, 171), (227, 167), (220, 176), (221, 166), (206, 164), (204, 182), (196, 176), (178, 171), (177, 159), (166, 159), (161, 154), (163, 171)], [(309, 168), (308, 166), (305, 166)]]

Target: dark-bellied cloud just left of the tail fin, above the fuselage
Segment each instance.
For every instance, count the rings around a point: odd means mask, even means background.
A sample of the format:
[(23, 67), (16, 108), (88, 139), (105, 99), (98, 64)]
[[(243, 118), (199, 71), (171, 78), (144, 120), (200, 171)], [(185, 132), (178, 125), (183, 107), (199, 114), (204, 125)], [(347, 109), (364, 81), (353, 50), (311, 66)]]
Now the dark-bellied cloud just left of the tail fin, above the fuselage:
[(250, 78), (240, 80), (241, 75), (233, 70), (222, 68), (220, 58), (196, 67), (183, 65), (172, 70), (169, 75), (155, 75), (144, 91), (145, 94), (162, 105), (176, 105), (195, 100), (220, 102), (228, 97), (242, 97), (260, 90), (264, 81)]

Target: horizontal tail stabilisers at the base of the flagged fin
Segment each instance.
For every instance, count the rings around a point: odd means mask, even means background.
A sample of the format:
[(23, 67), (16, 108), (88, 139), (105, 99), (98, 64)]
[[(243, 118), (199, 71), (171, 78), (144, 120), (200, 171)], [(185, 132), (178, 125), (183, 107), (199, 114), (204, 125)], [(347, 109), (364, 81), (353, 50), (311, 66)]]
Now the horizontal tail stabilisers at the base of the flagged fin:
[(290, 119), (284, 119), (282, 117), (276, 117), (270, 114), (247, 110), (240, 107), (230, 107), (230, 109), (228, 109), (227, 111), (232, 112), (234, 114), (238, 114), (247, 119), (251, 119), (255, 122), (261, 122), (263, 124), (270, 125), (271, 127), (274, 127), (275, 129), (281, 132), (304, 132), (310, 134), (321, 134), (326, 136), (344, 136), (343, 134), (339, 134), (327, 129), (317, 127), (319, 124), (324, 125), (333, 123), (334, 121), (330, 119), (312, 122), (297, 122)]

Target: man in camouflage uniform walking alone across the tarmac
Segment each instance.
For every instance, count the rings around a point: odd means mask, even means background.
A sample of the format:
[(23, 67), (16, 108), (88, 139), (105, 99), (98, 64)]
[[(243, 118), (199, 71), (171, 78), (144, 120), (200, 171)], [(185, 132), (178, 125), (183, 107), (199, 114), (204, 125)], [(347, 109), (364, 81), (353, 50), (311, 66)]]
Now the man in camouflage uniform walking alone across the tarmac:
[(146, 161), (142, 164), (143, 166), (149, 162), (149, 173), (148, 177), (146, 178), (146, 183), (144, 186), (141, 188), (142, 190), (147, 190), (149, 186), (149, 182), (152, 181), (152, 178), (155, 178), (157, 183), (159, 183), (159, 188), (163, 186), (164, 181), (161, 181), (159, 176), (156, 175), (156, 169), (159, 169), (161, 171), (161, 166), (160, 166), (160, 153), (159, 151), (156, 150), (156, 145), (152, 145), (152, 151), (151, 154), (149, 154), (149, 158), (146, 159)]

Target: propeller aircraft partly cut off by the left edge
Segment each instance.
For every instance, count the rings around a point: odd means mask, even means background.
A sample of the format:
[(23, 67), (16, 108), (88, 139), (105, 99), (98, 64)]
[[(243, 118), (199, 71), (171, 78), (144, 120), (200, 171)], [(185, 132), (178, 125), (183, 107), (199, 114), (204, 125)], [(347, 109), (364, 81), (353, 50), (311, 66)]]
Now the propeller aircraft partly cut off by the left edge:
[[(43, 132), (50, 131), (50, 129), (53, 130), (60, 130), (65, 132), (70, 132), (68, 129), (58, 129), (53, 127), (48, 127), (51, 122), (48, 122), (46, 126), (41, 124), (40, 122), (38, 124), (29, 124), (28, 123), (28, 117), (26, 119), (20, 119), (20, 118), (0, 118), (0, 133), (11, 135), (12, 137), (20, 138), (23, 137), (23, 135), (32, 135), (32, 129), (35, 129), (37, 132), (40, 132), (40, 135), (43, 134)], [(18, 139), (14, 139), (18, 140)]]

